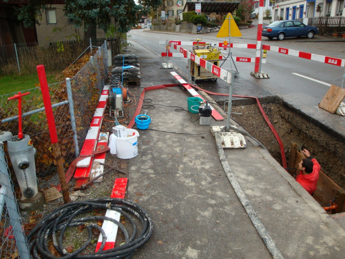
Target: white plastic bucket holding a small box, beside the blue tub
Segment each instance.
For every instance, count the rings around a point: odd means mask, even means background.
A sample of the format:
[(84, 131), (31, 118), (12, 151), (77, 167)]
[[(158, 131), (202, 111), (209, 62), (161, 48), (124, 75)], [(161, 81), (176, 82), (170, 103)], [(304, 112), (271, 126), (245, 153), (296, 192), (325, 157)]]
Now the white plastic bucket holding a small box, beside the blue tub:
[[(138, 136), (139, 132), (131, 128), (126, 128), (127, 136), (130, 137), (115, 137), (116, 156), (122, 159), (129, 159), (138, 154)], [(133, 135), (134, 133), (134, 135)]]

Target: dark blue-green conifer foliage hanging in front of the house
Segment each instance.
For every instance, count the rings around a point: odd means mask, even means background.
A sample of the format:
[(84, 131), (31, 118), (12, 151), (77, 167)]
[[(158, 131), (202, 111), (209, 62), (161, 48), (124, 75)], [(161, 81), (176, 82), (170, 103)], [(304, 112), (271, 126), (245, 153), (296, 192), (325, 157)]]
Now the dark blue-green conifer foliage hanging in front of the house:
[[(8, 0), (5, 0), (8, 1)], [(17, 8), (17, 17), (26, 28), (39, 24), (42, 11), (49, 0), (29, 0), (22, 8)], [(96, 28), (107, 32), (111, 25), (117, 32), (128, 32), (151, 9), (156, 9), (161, 0), (66, 0), (65, 15), (75, 27), (84, 27), (84, 38), (96, 38)]]

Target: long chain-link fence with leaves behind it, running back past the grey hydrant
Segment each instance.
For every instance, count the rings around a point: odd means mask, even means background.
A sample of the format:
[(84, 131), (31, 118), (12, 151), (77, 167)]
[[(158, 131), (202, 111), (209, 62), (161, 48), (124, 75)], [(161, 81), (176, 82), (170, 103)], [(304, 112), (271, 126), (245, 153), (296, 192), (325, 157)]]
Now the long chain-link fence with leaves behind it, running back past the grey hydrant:
[[(65, 167), (79, 156), (108, 75), (107, 42), (97, 49), (96, 54), (75, 76), (48, 86)], [(21, 93), (27, 92), (30, 94), (22, 96), (22, 132), (29, 135), (33, 141), (37, 150), (37, 176), (42, 176), (56, 171), (55, 157), (41, 89), (36, 87)], [(0, 130), (18, 135), (18, 100), (7, 99), (15, 94), (17, 93), (0, 96)], [(95, 98), (97, 102), (91, 102)]]

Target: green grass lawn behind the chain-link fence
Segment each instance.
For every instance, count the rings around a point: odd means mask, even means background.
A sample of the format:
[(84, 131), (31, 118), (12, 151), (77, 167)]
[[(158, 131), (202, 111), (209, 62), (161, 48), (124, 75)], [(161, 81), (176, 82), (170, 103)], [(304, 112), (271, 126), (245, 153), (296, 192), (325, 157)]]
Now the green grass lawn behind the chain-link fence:
[[(55, 78), (61, 71), (47, 72), (48, 84), (57, 83)], [(25, 75), (0, 75), (0, 95), (17, 93), (26, 89), (39, 86), (40, 81), (37, 73)]]

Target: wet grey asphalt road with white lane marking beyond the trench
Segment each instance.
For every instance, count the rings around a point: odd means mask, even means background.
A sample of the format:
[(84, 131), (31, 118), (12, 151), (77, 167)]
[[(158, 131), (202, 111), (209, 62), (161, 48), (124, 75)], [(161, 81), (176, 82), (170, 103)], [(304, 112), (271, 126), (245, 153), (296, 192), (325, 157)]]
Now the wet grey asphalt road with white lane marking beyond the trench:
[[(256, 43), (257, 27), (241, 30), (242, 37), (232, 38), (233, 43)], [(142, 45), (148, 51), (157, 54), (157, 59), (166, 62), (161, 57), (165, 51), (165, 45), (159, 45), (158, 41), (181, 40), (191, 41), (197, 37), (203, 41), (222, 42), (224, 38), (216, 38), (217, 32), (193, 35), (189, 33), (156, 32), (152, 30), (131, 30), (129, 42), (134, 46)], [(328, 36), (316, 35), (313, 39), (288, 38), (283, 41), (277, 39), (269, 40), (262, 38), (262, 43), (276, 47), (304, 51), (316, 55), (328, 57), (345, 58), (345, 40), (335, 39)], [(191, 49), (191, 46), (182, 46)], [(171, 52), (177, 52), (171, 49)], [(254, 49), (232, 48), (234, 57), (255, 57)], [(226, 55), (225, 53), (223, 54)], [(169, 63), (179, 70), (179, 73), (187, 77), (187, 58), (169, 58)], [(261, 71), (267, 73), (269, 79), (257, 79), (250, 75), (254, 71), (254, 63), (237, 62), (236, 67), (239, 74), (235, 76), (233, 94), (255, 97), (279, 96), (295, 108), (307, 115), (314, 117), (317, 121), (323, 121), (326, 125), (334, 128), (337, 132), (345, 129), (344, 119), (338, 115), (332, 115), (318, 107), (331, 84), (341, 86), (344, 67), (329, 65), (318, 61), (298, 58), (291, 55), (284, 55), (268, 51), (267, 63), (262, 64)], [(230, 61), (226, 61), (222, 68), (234, 69)], [(206, 90), (217, 93), (229, 93), (229, 85), (222, 80), (199, 81), (199, 86)], [(227, 97), (214, 96), (216, 101), (226, 100)], [(344, 100), (343, 100), (344, 102)]]

